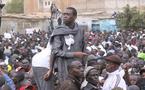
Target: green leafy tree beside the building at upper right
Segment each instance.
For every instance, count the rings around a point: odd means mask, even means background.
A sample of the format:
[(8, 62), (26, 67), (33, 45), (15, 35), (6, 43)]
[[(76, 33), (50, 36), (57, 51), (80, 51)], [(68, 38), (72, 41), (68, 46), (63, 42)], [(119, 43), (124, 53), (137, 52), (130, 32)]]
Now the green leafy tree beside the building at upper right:
[(144, 28), (145, 13), (139, 12), (136, 7), (130, 8), (129, 5), (123, 8), (123, 12), (118, 12), (116, 16), (117, 25), (121, 29)]

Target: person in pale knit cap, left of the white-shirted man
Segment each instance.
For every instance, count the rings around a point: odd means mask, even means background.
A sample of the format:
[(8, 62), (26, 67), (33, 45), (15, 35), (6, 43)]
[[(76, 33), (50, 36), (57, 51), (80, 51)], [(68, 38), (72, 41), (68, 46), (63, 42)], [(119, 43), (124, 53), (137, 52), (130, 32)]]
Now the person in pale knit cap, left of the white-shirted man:
[(101, 90), (99, 85), (99, 73), (96, 68), (88, 66), (84, 71), (87, 85), (82, 90)]

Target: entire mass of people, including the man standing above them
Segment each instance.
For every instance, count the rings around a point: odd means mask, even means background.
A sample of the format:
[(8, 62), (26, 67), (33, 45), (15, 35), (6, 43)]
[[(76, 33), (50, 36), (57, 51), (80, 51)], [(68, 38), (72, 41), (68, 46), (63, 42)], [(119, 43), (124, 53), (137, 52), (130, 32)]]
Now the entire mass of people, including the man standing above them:
[[(1, 36), (0, 90), (145, 90), (145, 31), (84, 31), (76, 18), (68, 7), (65, 25), (51, 36), (45, 31)], [(47, 53), (48, 42), (49, 62), (35, 56)]]

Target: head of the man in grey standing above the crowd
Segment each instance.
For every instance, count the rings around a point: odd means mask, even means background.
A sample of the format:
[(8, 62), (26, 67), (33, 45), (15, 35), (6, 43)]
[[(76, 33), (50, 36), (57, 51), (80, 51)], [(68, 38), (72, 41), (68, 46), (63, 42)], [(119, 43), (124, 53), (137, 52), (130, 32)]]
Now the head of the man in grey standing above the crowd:
[(63, 22), (68, 25), (74, 23), (77, 18), (77, 10), (73, 7), (67, 7), (63, 12)]

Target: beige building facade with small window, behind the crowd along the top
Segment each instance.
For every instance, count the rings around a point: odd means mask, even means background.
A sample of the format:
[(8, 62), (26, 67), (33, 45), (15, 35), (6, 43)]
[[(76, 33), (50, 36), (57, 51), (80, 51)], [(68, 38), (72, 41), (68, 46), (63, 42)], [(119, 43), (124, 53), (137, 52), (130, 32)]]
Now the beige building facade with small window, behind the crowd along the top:
[(145, 0), (24, 0), (24, 12), (49, 12), (52, 3), (56, 4), (60, 11), (72, 6), (78, 10), (79, 16), (96, 18), (104, 15), (109, 17), (114, 12), (121, 11), (127, 4), (139, 9), (145, 6)]

